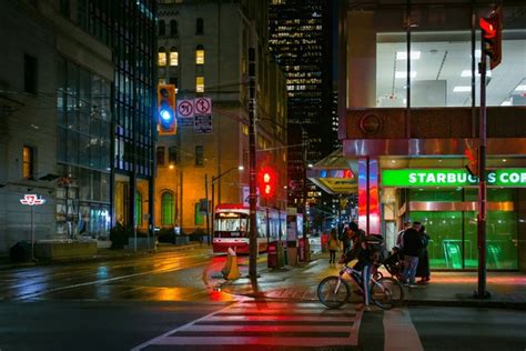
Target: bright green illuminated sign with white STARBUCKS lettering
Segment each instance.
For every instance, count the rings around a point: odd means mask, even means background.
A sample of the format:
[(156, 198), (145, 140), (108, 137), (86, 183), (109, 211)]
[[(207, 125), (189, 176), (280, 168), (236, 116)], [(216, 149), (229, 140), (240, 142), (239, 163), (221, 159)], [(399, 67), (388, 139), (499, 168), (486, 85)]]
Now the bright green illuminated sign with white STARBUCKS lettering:
[[(486, 172), (489, 187), (526, 187), (526, 169), (498, 169)], [(463, 169), (404, 169), (382, 170), (383, 187), (469, 187), (477, 185), (478, 178)]]

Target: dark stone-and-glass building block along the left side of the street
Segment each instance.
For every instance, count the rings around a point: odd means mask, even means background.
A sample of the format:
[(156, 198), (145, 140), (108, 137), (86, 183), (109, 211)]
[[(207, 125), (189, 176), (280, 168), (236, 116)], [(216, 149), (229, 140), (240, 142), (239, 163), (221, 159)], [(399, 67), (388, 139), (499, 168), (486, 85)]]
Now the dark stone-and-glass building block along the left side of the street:
[[(152, 212), (141, 208), (153, 190), (155, 3), (1, 7), (0, 252), (31, 233), (107, 239), (117, 218), (148, 223), (138, 213)], [(31, 210), (26, 194), (45, 203)]]

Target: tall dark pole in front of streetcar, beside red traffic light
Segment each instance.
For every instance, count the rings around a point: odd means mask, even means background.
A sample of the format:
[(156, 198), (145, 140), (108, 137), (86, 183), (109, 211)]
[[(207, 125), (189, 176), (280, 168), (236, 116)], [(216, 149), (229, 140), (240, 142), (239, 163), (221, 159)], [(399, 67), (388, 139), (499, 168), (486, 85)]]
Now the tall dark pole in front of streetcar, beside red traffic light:
[(250, 258), (249, 277), (257, 278), (256, 192), (255, 192), (255, 49), (249, 48), (249, 161), (250, 161)]

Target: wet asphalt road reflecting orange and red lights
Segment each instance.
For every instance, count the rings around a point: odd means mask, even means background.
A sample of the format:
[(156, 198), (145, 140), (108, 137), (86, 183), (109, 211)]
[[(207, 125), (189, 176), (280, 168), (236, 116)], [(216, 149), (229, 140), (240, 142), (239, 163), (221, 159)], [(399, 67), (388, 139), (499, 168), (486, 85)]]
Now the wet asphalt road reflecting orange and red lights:
[(223, 265), (203, 248), (0, 270), (0, 350), (526, 349), (524, 311), (254, 301), (218, 289)]

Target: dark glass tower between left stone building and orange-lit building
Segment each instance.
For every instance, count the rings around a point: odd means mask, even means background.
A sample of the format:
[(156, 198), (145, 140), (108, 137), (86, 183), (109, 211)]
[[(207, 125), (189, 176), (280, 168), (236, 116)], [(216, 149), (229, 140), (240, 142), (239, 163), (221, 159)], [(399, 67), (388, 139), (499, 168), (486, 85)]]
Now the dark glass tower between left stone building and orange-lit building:
[[(155, 108), (155, 68), (158, 60), (168, 64), (168, 52), (159, 57), (154, 0), (100, 1), (79, 0), (79, 26), (85, 32), (107, 44), (112, 50), (114, 80), (111, 96), (111, 151), (104, 156), (113, 171), (113, 219), (122, 218), (125, 224), (141, 227), (144, 209), (136, 205), (120, 205), (130, 198), (135, 203), (135, 191), (140, 182), (146, 181), (148, 189), (141, 190), (144, 199), (153, 191), (150, 180), (153, 178), (154, 142), (156, 138)], [(165, 23), (162, 23), (165, 29)], [(80, 162), (85, 162), (82, 149), (68, 146), (73, 154), (79, 154)], [(68, 152), (70, 152), (68, 151)], [(71, 162), (67, 156), (68, 162)], [(74, 157), (74, 156), (73, 156)], [(117, 176), (127, 179), (128, 193), (120, 191)], [(133, 201), (135, 200), (135, 201)], [(145, 202), (145, 201), (144, 201)], [(153, 203), (149, 201), (149, 203)], [(121, 209), (121, 210), (120, 210)], [(150, 209), (149, 209), (150, 210)], [(123, 213), (130, 211), (130, 213)], [(150, 211), (149, 211), (150, 212)], [(152, 218), (150, 215), (149, 218)], [(134, 220), (133, 220), (134, 219)], [(148, 225), (142, 225), (148, 227)]]

